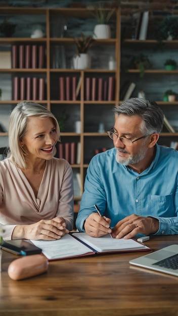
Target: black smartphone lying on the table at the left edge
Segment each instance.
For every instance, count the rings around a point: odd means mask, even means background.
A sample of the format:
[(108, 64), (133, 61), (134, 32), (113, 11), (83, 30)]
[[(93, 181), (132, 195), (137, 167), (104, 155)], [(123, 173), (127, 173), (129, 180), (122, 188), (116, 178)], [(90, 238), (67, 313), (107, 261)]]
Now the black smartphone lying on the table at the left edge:
[(1, 248), (9, 252), (20, 254), (20, 255), (30, 255), (41, 253), (41, 249), (36, 247), (24, 239), (17, 240), (3, 240)]

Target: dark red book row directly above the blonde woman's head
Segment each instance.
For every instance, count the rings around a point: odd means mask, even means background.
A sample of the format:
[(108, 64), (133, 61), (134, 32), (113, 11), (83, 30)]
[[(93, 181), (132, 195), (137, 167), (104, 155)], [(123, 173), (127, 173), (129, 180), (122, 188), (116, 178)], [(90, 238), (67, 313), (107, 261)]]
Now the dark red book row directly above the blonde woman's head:
[(14, 77), (13, 100), (44, 100), (44, 78)]

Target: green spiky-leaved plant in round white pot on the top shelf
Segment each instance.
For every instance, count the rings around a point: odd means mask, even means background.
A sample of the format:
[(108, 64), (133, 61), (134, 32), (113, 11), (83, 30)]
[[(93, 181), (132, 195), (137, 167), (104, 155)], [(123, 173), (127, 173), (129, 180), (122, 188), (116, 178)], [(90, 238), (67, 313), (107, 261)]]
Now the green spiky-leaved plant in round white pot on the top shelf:
[(106, 39), (111, 37), (111, 29), (108, 22), (112, 17), (115, 8), (108, 9), (105, 8), (102, 3), (99, 6), (95, 6), (95, 10), (92, 12), (92, 15), (97, 19), (97, 25), (94, 28), (93, 38), (95, 39)]

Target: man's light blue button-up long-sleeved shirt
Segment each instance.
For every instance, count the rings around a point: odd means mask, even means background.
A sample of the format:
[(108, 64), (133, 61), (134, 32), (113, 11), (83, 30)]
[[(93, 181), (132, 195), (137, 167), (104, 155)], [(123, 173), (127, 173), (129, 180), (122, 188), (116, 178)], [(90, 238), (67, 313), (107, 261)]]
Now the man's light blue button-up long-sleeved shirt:
[(141, 174), (116, 162), (112, 148), (93, 157), (87, 168), (76, 227), (96, 212), (111, 219), (111, 228), (128, 215), (159, 220), (155, 235), (178, 234), (178, 151), (156, 145), (156, 155)]

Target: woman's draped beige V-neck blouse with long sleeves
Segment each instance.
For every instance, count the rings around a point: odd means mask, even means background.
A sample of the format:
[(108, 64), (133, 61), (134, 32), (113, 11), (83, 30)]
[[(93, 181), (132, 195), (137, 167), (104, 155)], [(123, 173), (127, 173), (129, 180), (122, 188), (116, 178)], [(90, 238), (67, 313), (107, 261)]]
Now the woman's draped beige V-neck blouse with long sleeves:
[(73, 174), (69, 163), (53, 157), (46, 161), (37, 198), (23, 174), (10, 160), (0, 162), (0, 223), (4, 240), (12, 239), (16, 225), (63, 217), (73, 229)]

